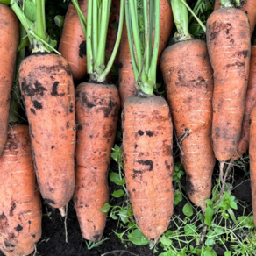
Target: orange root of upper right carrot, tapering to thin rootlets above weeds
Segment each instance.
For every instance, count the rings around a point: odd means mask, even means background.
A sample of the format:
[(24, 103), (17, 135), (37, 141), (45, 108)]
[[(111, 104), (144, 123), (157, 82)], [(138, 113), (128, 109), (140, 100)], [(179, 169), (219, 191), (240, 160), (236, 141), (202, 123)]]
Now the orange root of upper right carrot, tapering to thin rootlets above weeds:
[(226, 161), (238, 148), (244, 117), (251, 56), (250, 25), (245, 11), (214, 11), (207, 21), (206, 38), (214, 71), (213, 151), (217, 160)]

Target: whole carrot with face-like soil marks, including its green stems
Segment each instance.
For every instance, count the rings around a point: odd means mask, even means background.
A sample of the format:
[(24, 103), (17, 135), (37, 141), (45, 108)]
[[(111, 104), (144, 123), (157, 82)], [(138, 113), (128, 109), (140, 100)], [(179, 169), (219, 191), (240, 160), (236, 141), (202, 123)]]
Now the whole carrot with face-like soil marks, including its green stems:
[(160, 46), (160, 0), (150, 4), (143, 1), (139, 10), (143, 32), (136, 19), (137, 4), (139, 1), (131, 0), (125, 4), (138, 94), (125, 101), (122, 113), (124, 169), (136, 223), (156, 242), (173, 214), (173, 126), (166, 100), (153, 94)]

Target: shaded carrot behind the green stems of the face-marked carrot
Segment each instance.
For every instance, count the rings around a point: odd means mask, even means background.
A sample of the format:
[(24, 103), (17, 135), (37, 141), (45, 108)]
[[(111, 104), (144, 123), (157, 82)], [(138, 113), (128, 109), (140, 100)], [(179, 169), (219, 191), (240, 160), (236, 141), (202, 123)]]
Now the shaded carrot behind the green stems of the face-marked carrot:
[[(160, 54), (167, 46), (168, 39), (174, 27), (174, 18), (171, 4), (168, 0), (160, 0), (160, 46), (158, 53), (158, 65), (160, 63)], [(127, 29), (124, 24), (119, 54), (119, 95), (121, 107), (129, 96), (134, 96), (137, 92), (132, 74), (132, 60), (129, 53), (129, 44)]]

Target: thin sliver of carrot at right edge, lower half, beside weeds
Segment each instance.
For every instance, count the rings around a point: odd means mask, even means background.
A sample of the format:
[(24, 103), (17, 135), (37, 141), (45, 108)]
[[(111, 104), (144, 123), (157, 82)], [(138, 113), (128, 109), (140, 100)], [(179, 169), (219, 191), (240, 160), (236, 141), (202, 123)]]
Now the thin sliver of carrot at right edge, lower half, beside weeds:
[(255, 165), (255, 154), (256, 154), (256, 107), (252, 108), (250, 117), (250, 144), (249, 144), (249, 155), (250, 155), (250, 179), (252, 188), (252, 212), (254, 218), (254, 224), (256, 224), (256, 165)]

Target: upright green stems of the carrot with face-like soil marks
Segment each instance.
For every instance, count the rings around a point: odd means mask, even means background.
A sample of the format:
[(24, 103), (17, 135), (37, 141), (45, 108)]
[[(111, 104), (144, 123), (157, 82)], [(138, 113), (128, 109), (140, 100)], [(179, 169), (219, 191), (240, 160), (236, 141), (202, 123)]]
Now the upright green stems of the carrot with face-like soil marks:
[(126, 0), (125, 17), (136, 88), (153, 95), (160, 44), (160, 0)]

